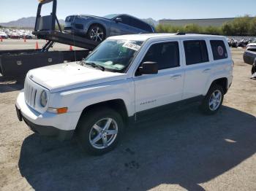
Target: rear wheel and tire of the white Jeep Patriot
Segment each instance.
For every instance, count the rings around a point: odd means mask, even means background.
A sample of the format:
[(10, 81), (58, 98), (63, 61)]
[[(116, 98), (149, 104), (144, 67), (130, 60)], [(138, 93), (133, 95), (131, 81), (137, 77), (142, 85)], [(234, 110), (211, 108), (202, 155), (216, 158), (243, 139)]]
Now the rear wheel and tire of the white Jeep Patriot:
[[(215, 99), (214, 99), (214, 96)], [(200, 110), (204, 114), (216, 114), (219, 108), (222, 106), (224, 98), (224, 90), (220, 85), (211, 85), (206, 97), (203, 99), (200, 105)]]

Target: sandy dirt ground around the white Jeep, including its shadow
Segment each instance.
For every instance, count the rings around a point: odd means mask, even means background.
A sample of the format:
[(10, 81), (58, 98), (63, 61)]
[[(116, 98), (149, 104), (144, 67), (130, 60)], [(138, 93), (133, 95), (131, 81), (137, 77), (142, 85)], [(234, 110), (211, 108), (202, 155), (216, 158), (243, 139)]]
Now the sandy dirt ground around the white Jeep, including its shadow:
[(192, 106), (140, 123), (101, 157), (18, 122), (23, 85), (0, 77), (0, 190), (256, 190), (256, 80), (243, 50), (232, 52), (233, 85), (218, 114)]

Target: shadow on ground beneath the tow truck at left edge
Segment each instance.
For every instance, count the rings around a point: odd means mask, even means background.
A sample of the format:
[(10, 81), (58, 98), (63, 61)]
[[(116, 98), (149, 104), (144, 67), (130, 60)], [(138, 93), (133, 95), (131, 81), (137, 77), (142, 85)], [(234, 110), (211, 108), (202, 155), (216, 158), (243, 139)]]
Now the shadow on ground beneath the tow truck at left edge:
[(24, 79), (7, 79), (0, 77), (0, 93), (13, 92), (22, 90), (24, 87)]

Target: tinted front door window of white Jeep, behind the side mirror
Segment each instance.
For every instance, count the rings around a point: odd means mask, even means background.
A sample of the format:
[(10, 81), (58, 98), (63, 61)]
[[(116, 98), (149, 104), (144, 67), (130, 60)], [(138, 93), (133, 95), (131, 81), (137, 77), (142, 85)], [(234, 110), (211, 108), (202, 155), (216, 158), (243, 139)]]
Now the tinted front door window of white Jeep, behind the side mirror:
[(164, 42), (153, 44), (148, 49), (143, 62), (158, 63), (158, 69), (170, 69), (179, 66), (178, 42)]

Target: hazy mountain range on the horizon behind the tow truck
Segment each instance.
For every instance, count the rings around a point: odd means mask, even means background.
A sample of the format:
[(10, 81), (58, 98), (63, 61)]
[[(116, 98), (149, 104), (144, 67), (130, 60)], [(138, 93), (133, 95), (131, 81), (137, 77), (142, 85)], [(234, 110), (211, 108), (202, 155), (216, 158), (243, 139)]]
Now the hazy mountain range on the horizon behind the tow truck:
[[(152, 26), (157, 26), (158, 21), (152, 18), (142, 19), (146, 23), (151, 24)], [(8, 23), (0, 23), (0, 26), (5, 27), (18, 27), (18, 28), (34, 28), (34, 23), (36, 22), (36, 17), (23, 17), (18, 20), (13, 20)], [(63, 19), (59, 19), (61, 25), (65, 24)]]

